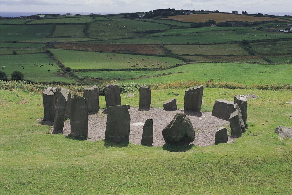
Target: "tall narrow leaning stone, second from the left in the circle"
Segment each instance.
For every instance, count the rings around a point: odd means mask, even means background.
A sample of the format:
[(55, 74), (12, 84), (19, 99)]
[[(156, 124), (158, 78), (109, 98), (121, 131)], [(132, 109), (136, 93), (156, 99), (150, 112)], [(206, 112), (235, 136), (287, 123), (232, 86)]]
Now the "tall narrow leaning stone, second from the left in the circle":
[(69, 90), (64, 88), (57, 88), (57, 104), (56, 113), (54, 118), (54, 133), (62, 132), (65, 122), (65, 116), (67, 113), (67, 102)]

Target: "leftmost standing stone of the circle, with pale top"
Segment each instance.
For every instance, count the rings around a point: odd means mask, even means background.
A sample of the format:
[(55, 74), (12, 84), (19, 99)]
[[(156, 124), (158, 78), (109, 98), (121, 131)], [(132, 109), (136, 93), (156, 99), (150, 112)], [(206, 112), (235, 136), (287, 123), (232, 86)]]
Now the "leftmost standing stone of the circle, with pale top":
[(44, 121), (54, 121), (56, 112), (57, 87), (48, 87), (43, 91)]

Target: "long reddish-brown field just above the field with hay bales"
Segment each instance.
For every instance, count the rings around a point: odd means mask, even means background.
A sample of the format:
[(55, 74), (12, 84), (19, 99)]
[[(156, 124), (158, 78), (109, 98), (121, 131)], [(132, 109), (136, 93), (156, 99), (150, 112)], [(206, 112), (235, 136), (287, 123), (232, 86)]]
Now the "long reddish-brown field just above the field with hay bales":
[(54, 45), (59, 49), (84, 50), (125, 53), (132, 52), (138, 54), (164, 54), (164, 50), (159, 45), (143, 44), (58, 44)]

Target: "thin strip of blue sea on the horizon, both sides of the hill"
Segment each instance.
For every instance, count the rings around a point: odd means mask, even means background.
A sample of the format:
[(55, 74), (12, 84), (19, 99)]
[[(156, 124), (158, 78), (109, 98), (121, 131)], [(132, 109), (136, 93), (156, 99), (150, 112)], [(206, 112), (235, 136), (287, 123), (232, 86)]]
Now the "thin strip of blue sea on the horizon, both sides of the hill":
[[(20, 16), (29, 16), (29, 15), (44, 15), (44, 14), (66, 14), (69, 12), (14, 12), (14, 11), (1, 11), (0, 17), (20, 17)], [(81, 14), (81, 15), (89, 15), (90, 13), (100, 14), (100, 15), (107, 15), (107, 14), (119, 14), (118, 12), (70, 12), (71, 14)], [(240, 12), (239, 12), (240, 13)], [(284, 16), (284, 15), (292, 15), (292, 12), (248, 12), (248, 14), (268, 14), (268, 15), (275, 15), (275, 16)]]

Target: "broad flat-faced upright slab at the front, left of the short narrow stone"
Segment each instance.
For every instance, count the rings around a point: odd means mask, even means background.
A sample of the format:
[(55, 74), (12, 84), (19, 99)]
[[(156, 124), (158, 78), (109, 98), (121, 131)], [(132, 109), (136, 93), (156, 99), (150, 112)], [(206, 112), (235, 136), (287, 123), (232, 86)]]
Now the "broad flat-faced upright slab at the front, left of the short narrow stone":
[(129, 143), (131, 118), (126, 105), (107, 108), (105, 141)]

